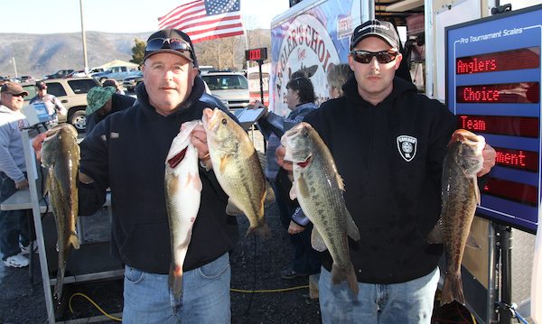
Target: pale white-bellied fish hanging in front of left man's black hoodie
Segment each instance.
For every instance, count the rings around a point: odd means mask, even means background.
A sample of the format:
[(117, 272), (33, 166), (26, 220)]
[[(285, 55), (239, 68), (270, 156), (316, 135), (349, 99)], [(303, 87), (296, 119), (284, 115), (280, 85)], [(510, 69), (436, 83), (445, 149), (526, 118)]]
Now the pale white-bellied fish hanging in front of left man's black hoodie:
[(165, 201), (172, 245), (169, 285), (177, 298), (182, 293), (182, 264), (200, 210), (202, 185), (198, 150), (191, 143), (191, 133), (196, 125), (201, 125), (201, 121), (182, 124), (165, 159)]

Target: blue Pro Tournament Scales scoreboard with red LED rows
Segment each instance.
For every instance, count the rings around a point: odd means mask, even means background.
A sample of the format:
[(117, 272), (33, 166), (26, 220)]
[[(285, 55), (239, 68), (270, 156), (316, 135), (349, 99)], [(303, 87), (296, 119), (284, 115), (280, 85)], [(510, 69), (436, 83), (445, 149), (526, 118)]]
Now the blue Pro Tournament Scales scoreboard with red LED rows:
[(497, 152), (477, 215), (536, 232), (542, 5), (447, 27), (446, 104)]

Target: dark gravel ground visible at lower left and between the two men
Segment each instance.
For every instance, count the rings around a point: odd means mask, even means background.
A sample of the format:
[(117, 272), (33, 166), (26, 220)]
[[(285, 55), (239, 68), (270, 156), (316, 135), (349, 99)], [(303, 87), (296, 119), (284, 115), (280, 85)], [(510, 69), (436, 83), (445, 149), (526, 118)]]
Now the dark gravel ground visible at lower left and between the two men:
[[(244, 237), (248, 228), (245, 218), (238, 218), (241, 239), (231, 253), (231, 287), (240, 291), (231, 292), (232, 323), (320, 323), (317, 300), (308, 297), (307, 278), (286, 281), (280, 271), (289, 265), (293, 254), (278, 219), (275, 204), (266, 209), (266, 218), (272, 237), (262, 241), (255, 236)], [(0, 266), (0, 323), (45, 323), (47, 310), (39, 269), (38, 255), (34, 255), (34, 280), (29, 282), (28, 268), (13, 269)], [(122, 282), (120, 280), (67, 285), (71, 296), (81, 292), (96, 301), (110, 314), (122, 310)], [(292, 287), (303, 287), (282, 291)], [(87, 300), (73, 297), (70, 313), (64, 310), (62, 319), (81, 319), (101, 315)], [(108, 322), (114, 322), (108, 320)]]

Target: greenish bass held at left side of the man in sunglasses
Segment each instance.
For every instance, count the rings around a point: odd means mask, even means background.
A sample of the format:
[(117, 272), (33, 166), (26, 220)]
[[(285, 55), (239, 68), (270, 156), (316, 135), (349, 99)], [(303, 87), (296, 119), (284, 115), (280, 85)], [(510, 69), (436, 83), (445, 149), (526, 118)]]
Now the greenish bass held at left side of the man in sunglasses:
[(346, 280), (357, 295), (358, 280), (350, 261), (348, 236), (357, 241), (360, 231), (344, 203), (344, 184), (332, 153), (313, 127), (304, 122), (287, 131), (281, 143), (286, 149), (285, 160), (294, 163), (290, 198), (297, 198), (313, 222), (311, 244), (316, 251), (327, 248), (332, 255), (332, 282)]

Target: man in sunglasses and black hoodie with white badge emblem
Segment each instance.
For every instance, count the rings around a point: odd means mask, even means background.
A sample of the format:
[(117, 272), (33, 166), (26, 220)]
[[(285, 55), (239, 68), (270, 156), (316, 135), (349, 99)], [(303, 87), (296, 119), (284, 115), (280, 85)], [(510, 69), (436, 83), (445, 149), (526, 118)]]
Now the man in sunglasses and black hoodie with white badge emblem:
[[(332, 153), (361, 236), (349, 241), (357, 296), (346, 282), (332, 283), (332, 258), (322, 253), (322, 322), (428, 324), (443, 245), (427, 243), (426, 236), (440, 217), (443, 160), (457, 119), (396, 76), (402, 57), (391, 23), (361, 24), (350, 44), (355, 78), (342, 88), (344, 97), (304, 118)], [(276, 150), (279, 165), (291, 170), (284, 153)], [(482, 155), (479, 177), (495, 164), (490, 145)]]

